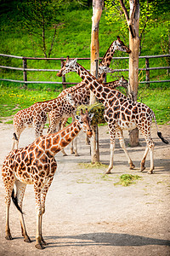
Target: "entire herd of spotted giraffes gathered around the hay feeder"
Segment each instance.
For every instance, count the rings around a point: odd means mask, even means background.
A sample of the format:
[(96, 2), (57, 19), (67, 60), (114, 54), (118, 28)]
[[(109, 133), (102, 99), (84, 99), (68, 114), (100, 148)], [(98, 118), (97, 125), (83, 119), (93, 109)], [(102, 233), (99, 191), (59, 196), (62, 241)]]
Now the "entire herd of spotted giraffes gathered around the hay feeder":
[[(110, 166), (105, 173), (111, 173), (113, 167), (116, 135), (127, 156), (130, 169), (134, 168), (133, 161), (125, 147), (123, 130), (132, 130), (135, 127), (138, 127), (146, 141), (146, 148), (140, 163), (140, 170), (141, 172), (144, 171), (144, 162), (150, 151), (150, 171), (148, 173), (153, 173), (154, 143), (150, 135), (150, 130), (152, 119), (154, 118), (156, 122), (155, 113), (143, 103), (133, 102), (119, 90), (116, 90), (118, 86), (127, 89), (128, 83), (123, 77), (117, 81), (103, 83), (105, 74), (113, 72), (109, 66), (115, 50), (121, 50), (127, 53), (131, 52), (130, 49), (122, 43), (120, 38), (117, 37), (117, 40), (111, 44), (99, 64), (99, 79), (95, 79), (91, 73), (77, 63), (77, 59), (67, 57), (57, 75), (62, 76), (66, 73), (76, 71), (82, 78), (82, 82), (63, 90), (54, 100), (37, 102), (30, 108), (22, 109), (14, 115), (12, 150), (3, 161), (2, 168), (3, 183), (6, 193), (5, 238), (7, 240), (12, 239), (9, 228), (9, 207), (12, 198), (14, 205), (20, 212), (21, 232), (22, 236), (24, 236), (24, 241), (31, 241), (26, 232), (26, 224), (22, 212), (22, 201), (26, 185), (33, 184), (37, 210), (36, 247), (43, 249), (44, 245), (47, 244), (42, 237), (42, 215), (45, 212), (46, 195), (57, 169), (54, 156), (59, 151), (62, 151), (65, 155), (64, 148), (69, 143), (73, 142), (73, 139), (77, 137), (79, 131), (82, 130), (86, 132), (88, 137), (92, 137), (93, 132), (90, 127), (90, 121), (94, 114), (88, 113), (88, 110), (86, 110), (85, 113), (82, 113), (81, 110), (80, 116), (75, 114), (78, 105), (89, 103), (90, 90), (93, 91), (97, 100), (105, 106), (104, 117), (110, 133), (111, 159)], [(47, 121), (47, 113), (49, 113), (48, 134), (42, 136), (42, 130)], [(71, 125), (64, 127), (69, 117), (72, 117), (73, 121)], [(64, 128), (56, 132), (56, 127), (59, 123), (62, 124)], [(28, 146), (19, 148), (20, 134), (26, 126), (30, 125), (34, 128), (36, 139)], [(161, 136), (161, 132), (158, 131), (158, 128), (157, 134), (163, 143), (168, 143), (167, 140)], [(75, 154), (78, 155), (77, 147)]]

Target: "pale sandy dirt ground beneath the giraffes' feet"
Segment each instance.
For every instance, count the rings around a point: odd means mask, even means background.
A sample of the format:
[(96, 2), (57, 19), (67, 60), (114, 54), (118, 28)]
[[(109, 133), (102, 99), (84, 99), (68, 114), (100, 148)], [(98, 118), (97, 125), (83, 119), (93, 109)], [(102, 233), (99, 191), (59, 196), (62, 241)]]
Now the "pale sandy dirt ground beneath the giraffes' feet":
[[(162, 135), (170, 142), (170, 125), (159, 126)], [(44, 131), (44, 134), (47, 131)], [(11, 148), (13, 126), (0, 124), (0, 167)], [(20, 233), (20, 220), (14, 205), (10, 207), (12, 241), (5, 240), (5, 204), (2, 176), (0, 175), (0, 255), (118, 255), (147, 256), (170, 255), (170, 144), (156, 136), (155, 173), (149, 175), (150, 157), (146, 170), (139, 172), (139, 162), (144, 154), (145, 142), (140, 136), (140, 146), (128, 147), (135, 169), (128, 169), (125, 154), (116, 141), (112, 174), (103, 177), (103, 169), (85, 169), (79, 165), (90, 162), (90, 149), (85, 145), (84, 134), (78, 137), (80, 156), (56, 155), (58, 170), (48, 191), (46, 213), (42, 230), (48, 246), (40, 251), (35, 247), (36, 212), (32, 185), (26, 188), (23, 211), (31, 243), (26, 243)], [(100, 161), (108, 165), (110, 141), (107, 127), (99, 127)], [(20, 146), (34, 140), (32, 129), (24, 131)], [(123, 173), (138, 174), (141, 179), (128, 187), (114, 185)]]

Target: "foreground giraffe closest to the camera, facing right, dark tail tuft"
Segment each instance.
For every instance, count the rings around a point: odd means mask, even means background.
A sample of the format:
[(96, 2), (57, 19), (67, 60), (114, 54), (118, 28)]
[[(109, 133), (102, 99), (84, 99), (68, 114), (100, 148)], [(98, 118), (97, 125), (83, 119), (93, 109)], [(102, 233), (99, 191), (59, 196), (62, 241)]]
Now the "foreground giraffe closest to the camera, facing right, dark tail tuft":
[[(5, 188), (6, 203), (6, 228), (5, 238), (12, 240), (9, 228), (9, 207), (11, 197), (15, 207), (20, 211), (20, 224), (24, 241), (30, 242), (31, 239), (26, 232), (26, 224), (22, 212), (22, 201), (24, 198), (26, 185), (33, 184), (37, 210), (37, 233), (36, 247), (43, 249), (47, 243), (42, 237), (42, 214), (45, 212), (45, 199), (48, 189), (53, 181), (57, 163), (54, 155), (62, 148), (65, 148), (79, 131), (87, 133), (92, 137), (90, 121), (94, 113), (80, 113), (71, 125), (54, 134), (38, 137), (33, 143), (25, 148), (12, 150), (3, 161), (2, 176)], [(14, 184), (16, 195), (14, 195)]]

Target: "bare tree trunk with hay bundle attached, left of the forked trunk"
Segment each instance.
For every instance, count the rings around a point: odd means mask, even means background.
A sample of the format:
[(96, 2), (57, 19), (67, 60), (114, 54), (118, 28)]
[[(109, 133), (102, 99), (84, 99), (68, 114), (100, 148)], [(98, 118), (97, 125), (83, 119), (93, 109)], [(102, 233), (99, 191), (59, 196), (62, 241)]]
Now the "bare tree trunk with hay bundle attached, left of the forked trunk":
[[(92, 34), (91, 34), (91, 67), (90, 73), (96, 75), (96, 62), (99, 61), (99, 20), (103, 10), (103, 0), (93, 0)], [(90, 91), (90, 104), (96, 101), (92, 91)], [(91, 138), (91, 161), (99, 162), (99, 131), (98, 125), (93, 125), (93, 134)]]

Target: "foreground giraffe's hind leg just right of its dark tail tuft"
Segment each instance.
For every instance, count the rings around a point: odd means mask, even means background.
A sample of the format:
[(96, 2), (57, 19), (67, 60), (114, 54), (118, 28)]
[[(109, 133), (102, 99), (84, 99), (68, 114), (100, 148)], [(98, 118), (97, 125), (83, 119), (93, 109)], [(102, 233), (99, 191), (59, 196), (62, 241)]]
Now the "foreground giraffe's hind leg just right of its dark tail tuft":
[[(17, 197), (18, 205), (22, 210), (22, 201), (26, 191), (26, 184), (21, 183), (19, 180), (16, 180), (15, 185), (16, 185), (16, 197)], [(23, 216), (23, 213), (21, 212), (20, 212), (20, 225), (21, 225), (22, 236), (24, 236), (24, 241), (31, 242), (30, 237), (27, 235), (24, 216)]]

